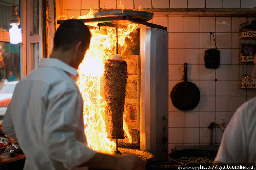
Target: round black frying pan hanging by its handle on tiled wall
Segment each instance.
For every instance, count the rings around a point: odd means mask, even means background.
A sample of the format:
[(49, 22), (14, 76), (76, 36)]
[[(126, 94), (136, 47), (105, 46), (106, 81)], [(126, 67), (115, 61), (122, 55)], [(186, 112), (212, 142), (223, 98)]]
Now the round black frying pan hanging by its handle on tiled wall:
[(194, 83), (188, 82), (187, 63), (184, 63), (184, 82), (176, 84), (171, 92), (173, 105), (179, 110), (192, 110), (200, 100), (200, 91)]

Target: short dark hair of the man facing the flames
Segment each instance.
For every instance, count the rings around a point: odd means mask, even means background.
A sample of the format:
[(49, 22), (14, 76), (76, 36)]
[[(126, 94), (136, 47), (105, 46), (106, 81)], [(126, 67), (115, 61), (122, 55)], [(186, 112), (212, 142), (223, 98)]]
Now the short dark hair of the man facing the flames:
[(83, 46), (90, 43), (91, 33), (86, 25), (80, 20), (70, 19), (60, 24), (55, 32), (53, 50), (61, 48), (67, 51), (73, 48), (79, 41)]

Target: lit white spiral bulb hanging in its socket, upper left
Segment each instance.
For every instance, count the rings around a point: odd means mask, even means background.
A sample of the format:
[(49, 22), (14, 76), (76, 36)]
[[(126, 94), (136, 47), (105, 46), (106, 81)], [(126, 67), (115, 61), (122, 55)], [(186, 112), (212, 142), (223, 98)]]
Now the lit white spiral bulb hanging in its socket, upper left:
[(22, 41), (21, 36), (21, 28), (19, 28), (20, 25), (20, 19), (17, 15), (17, 7), (15, 6), (15, 0), (14, 4), (11, 7), (11, 16), (9, 19), (9, 24), (12, 26), (12, 28), (9, 29), (9, 35), (10, 35), (10, 43), (11, 44), (18, 44)]

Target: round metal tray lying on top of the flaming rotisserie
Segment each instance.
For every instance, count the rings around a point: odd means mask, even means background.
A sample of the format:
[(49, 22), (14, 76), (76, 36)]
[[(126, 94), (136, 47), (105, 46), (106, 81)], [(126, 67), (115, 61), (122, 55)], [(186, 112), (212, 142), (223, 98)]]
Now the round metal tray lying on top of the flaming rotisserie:
[(93, 14), (95, 18), (108, 17), (108, 16), (130, 16), (134, 19), (142, 21), (149, 21), (153, 18), (153, 13), (146, 11), (133, 11), (133, 10), (105, 10)]

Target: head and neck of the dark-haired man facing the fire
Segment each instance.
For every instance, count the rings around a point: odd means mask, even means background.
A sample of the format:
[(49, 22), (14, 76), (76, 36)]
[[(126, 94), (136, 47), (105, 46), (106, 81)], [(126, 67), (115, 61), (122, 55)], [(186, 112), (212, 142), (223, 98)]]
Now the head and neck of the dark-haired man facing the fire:
[(55, 32), (53, 51), (50, 58), (57, 58), (78, 68), (89, 47), (91, 33), (80, 20), (70, 19), (60, 24)]

